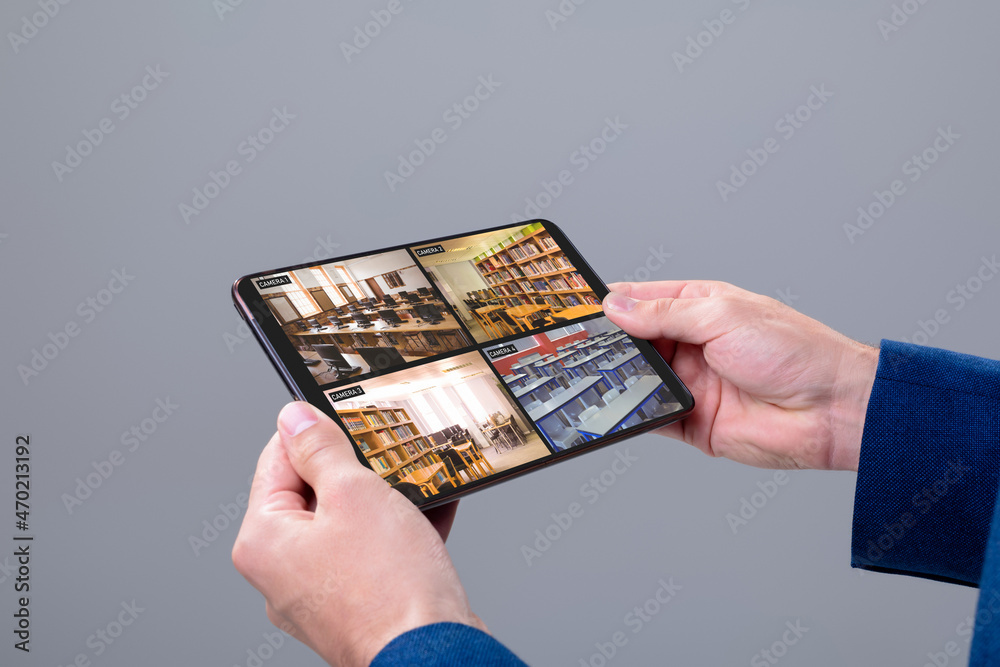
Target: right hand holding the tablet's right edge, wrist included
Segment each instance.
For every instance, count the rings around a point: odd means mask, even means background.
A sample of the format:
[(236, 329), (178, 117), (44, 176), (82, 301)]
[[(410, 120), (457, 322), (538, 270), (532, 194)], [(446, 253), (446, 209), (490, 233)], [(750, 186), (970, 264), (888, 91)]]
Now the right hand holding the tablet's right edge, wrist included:
[(616, 283), (608, 318), (694, 394), (663, 433), (761, 468), (857, 470), (878, 350), (726, 283)]

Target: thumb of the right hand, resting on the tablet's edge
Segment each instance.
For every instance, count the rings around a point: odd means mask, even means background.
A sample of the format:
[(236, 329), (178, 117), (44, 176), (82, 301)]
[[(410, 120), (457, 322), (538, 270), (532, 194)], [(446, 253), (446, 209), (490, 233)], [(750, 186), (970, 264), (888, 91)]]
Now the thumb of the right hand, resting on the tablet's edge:
[(732, 328), (717, 297), (633, 299), (621, 292), (604, 298), (604, 314), (625, 333), (704, 345)]

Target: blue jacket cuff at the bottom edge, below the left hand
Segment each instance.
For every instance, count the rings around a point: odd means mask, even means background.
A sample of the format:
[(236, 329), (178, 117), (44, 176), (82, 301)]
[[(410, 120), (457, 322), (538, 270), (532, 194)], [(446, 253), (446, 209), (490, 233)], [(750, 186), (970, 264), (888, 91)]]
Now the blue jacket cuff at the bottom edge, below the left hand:
[(459, 623), (410, 630), (382, 649), (371, 667), (527, 667), (490, 635)]

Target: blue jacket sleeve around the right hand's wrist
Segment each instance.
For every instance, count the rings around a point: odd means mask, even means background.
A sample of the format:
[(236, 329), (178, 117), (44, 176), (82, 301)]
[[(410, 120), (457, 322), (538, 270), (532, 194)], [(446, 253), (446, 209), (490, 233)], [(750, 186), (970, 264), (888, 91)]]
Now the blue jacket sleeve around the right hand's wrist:
[(851, 564), (977, 585), (1000, 473), (1000, 363), (882, 341)]

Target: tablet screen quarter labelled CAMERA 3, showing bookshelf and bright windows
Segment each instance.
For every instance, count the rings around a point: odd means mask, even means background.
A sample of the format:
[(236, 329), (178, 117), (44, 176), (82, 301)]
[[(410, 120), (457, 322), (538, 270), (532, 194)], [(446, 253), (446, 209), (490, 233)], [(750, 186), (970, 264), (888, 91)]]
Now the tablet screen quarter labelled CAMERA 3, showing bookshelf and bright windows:
[(369, 466), (418, 504), (552, 453), (479, 352), (326, 396)]

